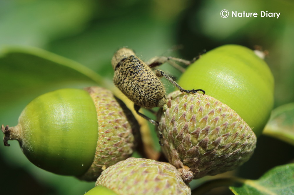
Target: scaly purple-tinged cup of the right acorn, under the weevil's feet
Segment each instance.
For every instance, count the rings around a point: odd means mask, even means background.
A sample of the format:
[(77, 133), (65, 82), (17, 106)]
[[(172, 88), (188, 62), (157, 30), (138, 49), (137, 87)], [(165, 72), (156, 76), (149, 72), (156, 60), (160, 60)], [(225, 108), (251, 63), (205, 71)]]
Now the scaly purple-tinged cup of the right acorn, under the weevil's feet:
[(158, 116), (163, 153), (185, 182), (233, 170), (255, 149), (248, 124), (211, 96), (174, 91)]

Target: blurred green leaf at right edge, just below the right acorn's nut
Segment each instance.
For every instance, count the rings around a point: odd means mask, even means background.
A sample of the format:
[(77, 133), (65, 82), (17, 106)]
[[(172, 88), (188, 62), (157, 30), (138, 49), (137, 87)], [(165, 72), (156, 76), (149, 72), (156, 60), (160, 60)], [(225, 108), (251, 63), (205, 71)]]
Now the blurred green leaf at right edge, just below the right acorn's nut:
[(273, 110), (263, 134), (294, 145), (294, 102)]

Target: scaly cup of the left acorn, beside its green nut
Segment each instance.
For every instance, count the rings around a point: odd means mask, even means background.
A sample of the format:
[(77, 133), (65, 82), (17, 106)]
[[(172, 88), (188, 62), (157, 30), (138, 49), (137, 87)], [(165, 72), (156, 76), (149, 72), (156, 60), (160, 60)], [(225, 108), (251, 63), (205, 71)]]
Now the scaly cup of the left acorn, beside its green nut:
[(135, 147), (133, 133), (139, 129), (131, 111), (111, 91), (100, 87), (85, 88), (97, 110), (98, 141), (91, 167), (81, 177), (93, 181), (103, 170), (130, 157)]

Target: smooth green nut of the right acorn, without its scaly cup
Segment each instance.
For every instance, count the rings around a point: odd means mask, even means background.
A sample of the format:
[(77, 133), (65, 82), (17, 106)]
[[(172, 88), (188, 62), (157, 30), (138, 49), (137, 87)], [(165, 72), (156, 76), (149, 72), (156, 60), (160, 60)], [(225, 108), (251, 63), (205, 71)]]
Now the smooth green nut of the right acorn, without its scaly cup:
[(263, 59), (240, 45), (217, 47), (191, 64), (178, 84), (203, 89), (235, 110), (258, 136), (273, 108), (274, 78)]

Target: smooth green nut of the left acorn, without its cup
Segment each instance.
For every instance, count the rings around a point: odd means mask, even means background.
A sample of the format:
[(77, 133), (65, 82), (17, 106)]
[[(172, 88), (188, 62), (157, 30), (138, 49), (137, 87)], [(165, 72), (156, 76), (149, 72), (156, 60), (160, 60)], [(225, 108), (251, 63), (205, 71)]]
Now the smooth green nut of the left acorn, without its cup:
[(97, 113), (85, 90), (61, 89), (35, 98), (19, 117), (21, 149), (36, 166), (82, 175), (93, 162)]

